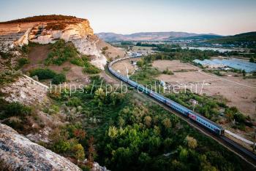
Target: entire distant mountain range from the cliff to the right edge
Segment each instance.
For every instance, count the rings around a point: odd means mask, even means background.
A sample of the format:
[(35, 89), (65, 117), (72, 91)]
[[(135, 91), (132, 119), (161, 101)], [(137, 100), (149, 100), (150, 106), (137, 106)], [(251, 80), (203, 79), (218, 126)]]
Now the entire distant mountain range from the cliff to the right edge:
[(197, 34), (187, 32), (140, 32), (132, 34), (97, 33), (105, 41), (168, 41), (168, 40), (201, 40), (208, 43), (233, 43), (234, 41), (256, 41), (256, 32), (241, 33), (234, 36), (217, 34)]

